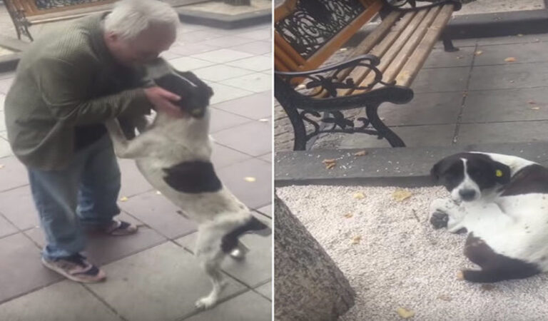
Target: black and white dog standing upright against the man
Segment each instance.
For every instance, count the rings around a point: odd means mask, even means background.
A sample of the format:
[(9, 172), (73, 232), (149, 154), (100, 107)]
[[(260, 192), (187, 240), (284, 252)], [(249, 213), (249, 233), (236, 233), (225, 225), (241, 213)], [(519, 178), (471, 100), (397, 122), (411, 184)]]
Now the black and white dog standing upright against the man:
[(207, 108), (212, 89), (193, 73), (175, 71), (165, 61), (153, 67), (149, 75), (158, 86), (181, 96), (181, 108), (191, 116), (171, 118), (158, 113), (131, 141), (116, 119), (106, 122), (106, 127), (116, 155), (135, 159), (148, 182), (198, 223), (195, 253), (213, 290), (196, 307), (208, 308), (215, 305), (225, 286), (220, 270), (225, 255), (242, 259), (248, 251), (238, 238), (250, 232), (270, 235), (271, 230), (215, 175)]

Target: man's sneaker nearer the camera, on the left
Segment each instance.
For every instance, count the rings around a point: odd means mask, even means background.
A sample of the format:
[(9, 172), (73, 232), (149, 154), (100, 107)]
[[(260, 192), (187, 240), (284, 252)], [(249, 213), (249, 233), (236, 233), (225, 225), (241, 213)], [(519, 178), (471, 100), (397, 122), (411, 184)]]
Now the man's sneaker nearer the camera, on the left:
[(81, 283), (96, 283), (106, 279), (106, 273), (76, 253), (66, 258), (49, 260), (42, 258), (42, 264), (64, 277)]

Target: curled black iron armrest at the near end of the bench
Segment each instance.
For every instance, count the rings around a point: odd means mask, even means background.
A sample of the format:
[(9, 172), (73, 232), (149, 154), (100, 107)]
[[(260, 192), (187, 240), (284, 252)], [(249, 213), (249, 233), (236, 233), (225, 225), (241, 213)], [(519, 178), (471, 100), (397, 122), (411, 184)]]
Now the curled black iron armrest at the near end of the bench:
[[(376, 67), (379, 63), (380, 59), (377, 58), (377, 56), (366, 54), (352, 58), (349, 61), (311, 71), (275, 71), (275, 76), (285, 83), (285, 88), (292, 87), (290, 83), (293, 78), (304, 78), (305, 84), (303, 88), (314, 90), (310, 91), (308, 94), (299, 93), (300, 95), (315, 97), (320, 94), (325, 95), (327, 92), (328, 96), (336, 97), (338, 96), (338, 89), (369, 90), (377, 85), (377, 83), (381, 83), (385, 86), (393, 85), (394, 83), (385, 83), (382, 81), (382, 72)], [(347, 71), (350, 71), (357, 66), (369, 68), (371, 72), (375, 74), (374, 80), (367, 86), (359, 86), (352, 78), (348, 77), (349, 72)], [(293, 88), (293, 91), (296, 90)]]

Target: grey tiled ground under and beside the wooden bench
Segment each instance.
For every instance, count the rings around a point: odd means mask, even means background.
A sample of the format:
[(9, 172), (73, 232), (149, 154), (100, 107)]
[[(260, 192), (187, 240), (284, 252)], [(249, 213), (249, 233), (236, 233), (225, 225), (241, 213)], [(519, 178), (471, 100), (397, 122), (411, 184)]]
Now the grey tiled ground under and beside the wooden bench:
[[(432, 51), (412, 83), (410, 103), (380, 106), (380, 117), (407, 146), (548, 140), (548, 34), (465, 39), (455, 45), (460, 51), (447, 53), (441, 44)], [(515, 61), (504, 61), (509, 57)], [(275, 127), (276, 150), (292, 148), (280, 106)], [(313, 146), (368, 147), (389, 145), (355, 134), (324, 136)]]

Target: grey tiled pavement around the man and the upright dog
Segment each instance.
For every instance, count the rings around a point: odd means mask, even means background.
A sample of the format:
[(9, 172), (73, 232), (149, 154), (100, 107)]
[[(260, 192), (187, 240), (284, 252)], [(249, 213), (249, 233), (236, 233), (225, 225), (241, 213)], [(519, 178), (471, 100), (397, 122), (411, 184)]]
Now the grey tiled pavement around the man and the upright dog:
[[(215, 91), (213, 163), (233, 193), (270, 224), (270, 24), (238, 30), (181, 24), (164, 57), (195, 71)], [(223, 302), (197, 313), (193, 302), (210, 283), (192, 255), (196, 225), (177, 213), (121, 160), (122, 218), (141, 225), (125, 238), (91, 235), (87, 254), (108, 281), (78, 285), (39, 263), (44, 236), (26, 171), (12, 156), (4, 127), (4, 97), (14, 73), (0, 73), (0, 320), (270, 320), (271, 238), (246, 236), (243, 262), (223, 263), (230, 284)], [(244, 180), (254, 177), (255, 182)]]

